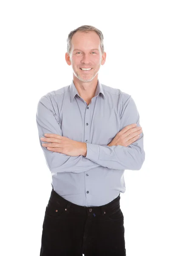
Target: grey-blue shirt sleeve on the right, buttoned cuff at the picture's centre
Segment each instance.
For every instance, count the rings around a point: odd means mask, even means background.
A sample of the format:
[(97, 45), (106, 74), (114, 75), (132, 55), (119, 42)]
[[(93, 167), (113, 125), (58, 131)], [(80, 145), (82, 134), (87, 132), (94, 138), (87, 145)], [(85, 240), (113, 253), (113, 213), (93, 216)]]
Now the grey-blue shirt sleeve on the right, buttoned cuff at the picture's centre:
[[(137, 124), (136, 127), (141, 126), (136, 104), (133, 98), (127, 93), (122, 94), (122, 106), (120, 131), (125, 126), (133, 123)], [(122, 145), (107, 146), (86, 143), (87, 154), (85, 158), (110, 169), (139, 170), (145, 159), (143, 138), (144, 134), (142, 132), (139, 139), (127, 147)]]

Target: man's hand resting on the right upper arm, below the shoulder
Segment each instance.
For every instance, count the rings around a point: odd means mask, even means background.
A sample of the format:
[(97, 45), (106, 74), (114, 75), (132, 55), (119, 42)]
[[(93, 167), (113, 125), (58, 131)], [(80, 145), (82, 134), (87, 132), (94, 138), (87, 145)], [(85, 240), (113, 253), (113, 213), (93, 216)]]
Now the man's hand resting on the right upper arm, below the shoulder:
[(125, 146), (127, 147), (134, 141), (139, 139), (138, 134), (142, 133), (142, 127), (135, 127), (134, 124), (127, 125), (124, 127), (121, 131), (119, 131), (118, 134), (113, 138), (111, 143), (108, 144), (108, 146)]

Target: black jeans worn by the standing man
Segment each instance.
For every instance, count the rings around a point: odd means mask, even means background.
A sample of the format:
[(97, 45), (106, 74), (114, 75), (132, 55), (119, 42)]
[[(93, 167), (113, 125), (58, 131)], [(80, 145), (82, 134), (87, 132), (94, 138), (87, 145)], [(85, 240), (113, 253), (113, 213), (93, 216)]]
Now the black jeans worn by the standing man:
[(73, 204), (53, 189), (45, 209), (40, 256), (126, 256), (120, 194), (108, 204)]

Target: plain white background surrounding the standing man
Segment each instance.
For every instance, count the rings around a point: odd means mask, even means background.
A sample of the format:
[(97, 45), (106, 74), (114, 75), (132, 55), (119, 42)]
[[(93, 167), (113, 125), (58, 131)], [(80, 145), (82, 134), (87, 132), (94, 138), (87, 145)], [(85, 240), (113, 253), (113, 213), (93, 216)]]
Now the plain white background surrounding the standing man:
[(104, 35), (101, 83), (136, 102), (145, 161), (125, 170), (121, 195), (127, 256), (170, 251), (169, 1), (4, 1), (0, 3), (0, 255), (40, 255), (51, 173), (40, 148), (37, 103), (71, 84), (65, 61), (71, 30)]

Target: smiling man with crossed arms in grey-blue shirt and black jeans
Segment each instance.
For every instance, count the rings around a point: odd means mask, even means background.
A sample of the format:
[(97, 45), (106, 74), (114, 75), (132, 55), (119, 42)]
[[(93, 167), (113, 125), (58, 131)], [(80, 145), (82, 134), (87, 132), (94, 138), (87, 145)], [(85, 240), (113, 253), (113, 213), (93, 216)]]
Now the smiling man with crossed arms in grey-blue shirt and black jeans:
[(143, 132), (133, 98), (101, 84), (103, 34), (80, 26), (68, 35), (70, 85), (37, 105), (40, 145), (52, 175), (40, 256), (125, 256), (120, 192), (124, 171), (144, 162)]

